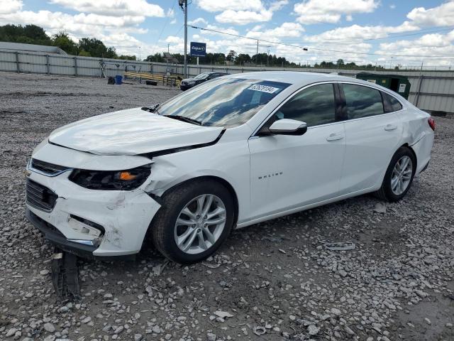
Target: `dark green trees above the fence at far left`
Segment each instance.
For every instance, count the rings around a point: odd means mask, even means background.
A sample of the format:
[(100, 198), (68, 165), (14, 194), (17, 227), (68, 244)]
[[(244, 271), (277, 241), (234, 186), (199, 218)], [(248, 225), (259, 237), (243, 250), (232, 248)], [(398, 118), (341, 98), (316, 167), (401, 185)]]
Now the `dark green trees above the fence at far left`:
[(68, 55), (135, 60), (135, 55), (118, 55), (114, 47), (107, 47), (99, 39), (82, 38), (76, 43), (66, 32), (48, 36), (42, 27), (36, 25), (0, 26), (0, 41), (55, 46)]

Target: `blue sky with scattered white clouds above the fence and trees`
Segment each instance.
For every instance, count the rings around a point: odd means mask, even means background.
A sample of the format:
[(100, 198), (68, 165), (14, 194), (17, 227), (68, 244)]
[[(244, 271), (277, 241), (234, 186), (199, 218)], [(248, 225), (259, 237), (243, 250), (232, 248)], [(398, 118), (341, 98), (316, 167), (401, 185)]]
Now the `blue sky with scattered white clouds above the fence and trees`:
[[(321, 60), (454, 67), (454, 0), (189, 0), (188, 23), (259, 42), (259, 53)], [(183, 53), (178, 0), (0, 0), (0, 25), (94, 37), (118, 53)], [(188, 28), (211, 53), (255, 54), (257, 40)], [(287, 45), (280, 45), (283, 43)], [(189, 43), (188, 43), (189, 44)], [(307, 48), (307, 50), (303, 50)], [(189, 48), (188, 48), (189, 50)]]

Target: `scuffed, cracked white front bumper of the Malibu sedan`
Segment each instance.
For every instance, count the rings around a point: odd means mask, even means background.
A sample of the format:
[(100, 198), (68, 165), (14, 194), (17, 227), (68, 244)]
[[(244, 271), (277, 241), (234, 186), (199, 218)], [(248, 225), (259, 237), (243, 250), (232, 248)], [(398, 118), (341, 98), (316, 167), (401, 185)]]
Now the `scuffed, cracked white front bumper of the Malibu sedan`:
[(143, 188), (132, 191), (89, 190), (68, 180), (70, 171), (29, 178), (57, 195), (45, 212), (26, 202), (26, 215), (50, 242), (86, 258), (137, 254), (160, 205)]

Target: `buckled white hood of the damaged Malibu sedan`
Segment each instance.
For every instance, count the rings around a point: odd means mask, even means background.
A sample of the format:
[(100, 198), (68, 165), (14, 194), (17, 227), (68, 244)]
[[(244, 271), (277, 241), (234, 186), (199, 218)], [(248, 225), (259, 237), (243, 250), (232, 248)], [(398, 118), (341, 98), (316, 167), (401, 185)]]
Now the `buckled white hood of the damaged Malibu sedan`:
[(207, 144), (222, 127), (197, 126), (140, 108), (102, 114), (62, 126), (49, 136), (52, 144), (99, 155), (137, 155)]

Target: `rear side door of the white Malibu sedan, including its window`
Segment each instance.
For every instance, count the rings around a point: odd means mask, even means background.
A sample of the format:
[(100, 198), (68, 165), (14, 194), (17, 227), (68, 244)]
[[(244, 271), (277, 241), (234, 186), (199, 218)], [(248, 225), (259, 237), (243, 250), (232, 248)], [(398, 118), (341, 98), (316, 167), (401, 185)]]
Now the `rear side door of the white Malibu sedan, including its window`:
[(403, 129), (399, 115), (384, 109), (379, 90), (349, 83), (340, 86), (348, 117), (340, 188), (343, 195), (380, 185)]

